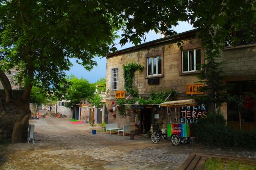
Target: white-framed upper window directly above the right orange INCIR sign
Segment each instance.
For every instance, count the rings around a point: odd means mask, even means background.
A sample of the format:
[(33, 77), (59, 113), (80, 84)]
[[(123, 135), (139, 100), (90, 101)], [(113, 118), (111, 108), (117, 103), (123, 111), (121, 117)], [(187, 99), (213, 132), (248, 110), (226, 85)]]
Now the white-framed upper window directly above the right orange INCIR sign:
[(201, 67), (201, 49), (182, 52), (182, 72), (194, 72)]

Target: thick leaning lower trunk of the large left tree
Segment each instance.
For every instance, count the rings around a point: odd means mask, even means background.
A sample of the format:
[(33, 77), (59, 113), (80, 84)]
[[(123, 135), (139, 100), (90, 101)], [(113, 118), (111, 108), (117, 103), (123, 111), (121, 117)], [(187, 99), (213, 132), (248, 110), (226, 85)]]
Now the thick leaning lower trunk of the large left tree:
[(29, 102), (15, 102), (20, 109), (20, 117), (17, 119), (13, 127), (12, 143), (25, 142), (28, 138), (29, 118), (31, 111)]

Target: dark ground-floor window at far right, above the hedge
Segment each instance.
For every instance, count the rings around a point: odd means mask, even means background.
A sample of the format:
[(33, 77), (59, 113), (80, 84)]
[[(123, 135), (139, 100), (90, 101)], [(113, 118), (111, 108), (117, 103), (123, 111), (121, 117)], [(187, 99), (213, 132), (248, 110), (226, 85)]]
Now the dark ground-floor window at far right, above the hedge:
[[(241, 121), (255, 123), (255, 100), (256, 94), (255, 81), (236, 81), (227, 82), (228, 92), (232, 95), (241, 95), (243, 98), (243, 107), (241, 108)], [(227, 121), (239, 122), (238, 106), (235, 104), (227, 105)]]

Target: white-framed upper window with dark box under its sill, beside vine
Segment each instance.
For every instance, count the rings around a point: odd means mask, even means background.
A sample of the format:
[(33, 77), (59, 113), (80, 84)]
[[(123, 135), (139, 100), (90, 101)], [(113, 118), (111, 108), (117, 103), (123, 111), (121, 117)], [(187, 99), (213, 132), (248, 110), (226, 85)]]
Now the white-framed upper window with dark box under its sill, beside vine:
[(162, 56), (147, 58), (147, 76), (162, 75)]

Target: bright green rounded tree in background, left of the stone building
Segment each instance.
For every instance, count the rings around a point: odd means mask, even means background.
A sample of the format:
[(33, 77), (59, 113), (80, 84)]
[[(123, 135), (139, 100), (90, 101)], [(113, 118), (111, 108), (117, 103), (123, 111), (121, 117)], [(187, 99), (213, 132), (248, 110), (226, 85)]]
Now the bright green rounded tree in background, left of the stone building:
[(67, 107), (70, 107), (72, 104), (79, 104), (81, 99), (90, 99), (96, 90), (94, 85), (83, 78), (78, 79), (71, 76), (68, 81), (71, 85), (67, 89), (67, 94), (65, 95), (65, 99), (70, 101)]

